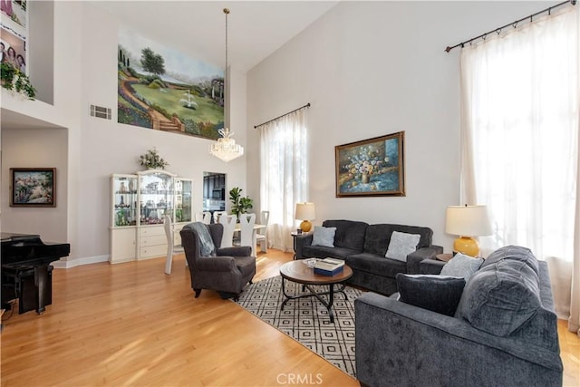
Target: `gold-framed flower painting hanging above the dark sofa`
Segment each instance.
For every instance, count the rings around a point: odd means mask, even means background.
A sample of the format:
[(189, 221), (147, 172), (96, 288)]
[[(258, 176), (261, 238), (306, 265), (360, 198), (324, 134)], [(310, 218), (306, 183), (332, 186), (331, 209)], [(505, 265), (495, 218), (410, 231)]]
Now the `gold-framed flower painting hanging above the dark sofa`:
[(405, 196), (405, 132), (334, 147), (336, 197)]

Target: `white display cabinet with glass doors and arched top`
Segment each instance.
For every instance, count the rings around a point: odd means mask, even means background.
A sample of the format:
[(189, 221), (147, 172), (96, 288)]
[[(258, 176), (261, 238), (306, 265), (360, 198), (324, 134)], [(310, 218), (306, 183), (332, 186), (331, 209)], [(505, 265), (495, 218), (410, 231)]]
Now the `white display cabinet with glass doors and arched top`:
[(165, 256), (166, 215), (179, 230), (191, 222), (192, 180), (165, 170), (111, 176), (111, 263)]

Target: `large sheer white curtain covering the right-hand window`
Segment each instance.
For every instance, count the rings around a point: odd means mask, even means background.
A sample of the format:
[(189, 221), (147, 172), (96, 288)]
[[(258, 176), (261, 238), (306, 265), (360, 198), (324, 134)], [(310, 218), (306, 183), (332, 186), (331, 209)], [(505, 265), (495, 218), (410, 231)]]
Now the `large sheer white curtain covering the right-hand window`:
[[(462, 203), (487, 204), (492, 237), (548, 262), (556, 313), (580, 321), (580, 7), (461, 50)], [(574, 287), (573, 287), (574, 286)]]

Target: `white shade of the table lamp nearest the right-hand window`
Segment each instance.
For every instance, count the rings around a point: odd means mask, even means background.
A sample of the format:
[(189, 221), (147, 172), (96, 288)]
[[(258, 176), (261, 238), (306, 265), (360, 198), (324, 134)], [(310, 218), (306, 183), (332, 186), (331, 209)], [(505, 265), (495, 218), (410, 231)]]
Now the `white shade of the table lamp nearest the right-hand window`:
[(449, 206), (445, 232), (462, 237), (491, 235), (491, 225), (486, 206)]

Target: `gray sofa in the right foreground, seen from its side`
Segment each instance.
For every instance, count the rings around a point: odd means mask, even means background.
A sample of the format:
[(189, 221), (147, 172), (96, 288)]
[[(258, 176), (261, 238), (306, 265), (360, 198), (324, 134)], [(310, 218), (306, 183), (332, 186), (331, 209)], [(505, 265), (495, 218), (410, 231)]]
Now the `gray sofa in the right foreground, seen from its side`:
[(361, 384), (562, 385), (546, 262), (525, 247), (502, 247), (459, 292), (451, 315), (373, 293), (355, 300)]

